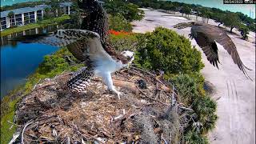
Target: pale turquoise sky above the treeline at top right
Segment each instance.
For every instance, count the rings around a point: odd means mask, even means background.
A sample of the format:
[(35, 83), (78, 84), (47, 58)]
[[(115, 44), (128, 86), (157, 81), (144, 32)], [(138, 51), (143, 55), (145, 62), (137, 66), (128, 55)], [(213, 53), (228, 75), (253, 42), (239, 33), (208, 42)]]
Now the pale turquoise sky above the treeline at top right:
[[(223, 4), (223, 0), (170, 0), (171, 2), (184, 2), (190, 4), (199, 4), (206, 7), (216, 7), (221, 10), (230, 10), (233, 12), (242, 12), (243, 14), (247, 14), (251, 16), (251, 18), (255, 18), (255, 5), (252, 4)], [(254, 16), (250, 15), (250, 10), (254, 13)]]

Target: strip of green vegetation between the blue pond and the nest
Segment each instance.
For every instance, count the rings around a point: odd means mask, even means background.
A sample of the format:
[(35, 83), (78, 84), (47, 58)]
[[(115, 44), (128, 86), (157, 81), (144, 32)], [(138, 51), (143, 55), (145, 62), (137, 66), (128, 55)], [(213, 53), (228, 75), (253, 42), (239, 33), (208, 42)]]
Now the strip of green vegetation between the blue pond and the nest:
[(66, 49), (66, 47), (58, 50), (55, 54), (46, 55), (44, 61), (34, 74), (27, 78), (26, 84), (19, 86), (16, 90), (10, 92), (2, 98), (1, 101), (1, 142), (6, 144), (10, 142), (16, 126), (12, 126), (10, 122), (13, 122), (15, 105), (22, 98), (22, 96), (30, 93), (34, 85), (44, 78), (53, 78), (54, 76), (61, 74), (65, 71), (77, 70), (82, 64), (73, 64), (68, 60), (69, 57), (72, 61), (76, 62), (76, 59)]

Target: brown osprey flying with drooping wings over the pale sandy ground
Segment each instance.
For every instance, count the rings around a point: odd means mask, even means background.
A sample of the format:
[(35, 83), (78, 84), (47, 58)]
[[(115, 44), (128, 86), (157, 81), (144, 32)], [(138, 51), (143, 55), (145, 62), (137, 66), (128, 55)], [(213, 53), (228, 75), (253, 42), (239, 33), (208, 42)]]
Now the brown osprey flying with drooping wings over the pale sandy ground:
[(195, 39), (206, 54), (207, 60), (214, 66), (218, 68), (218, 46), (217, 42), (224, 47), (225, 50), (231, 55), (235, 64), (238, 65), (238, 68), (242, 70), (243, 74), (246, 75), (247, 78), (250, 78), (246, 73), (246, 70), (250, 70), (247, 68), (241, 61), (237, 48), (232, 42), (231, 38), (226, 34), (226, 31), (218, 28), (218, 26), (213, 26), (206, 23), (201, 22), (186, 22), (186, 23), (178, 23), (174, 26), (174, 28), (184, 29), (186, 27), (191, 26), (191, 34), (189, 34), (191, 39)]

